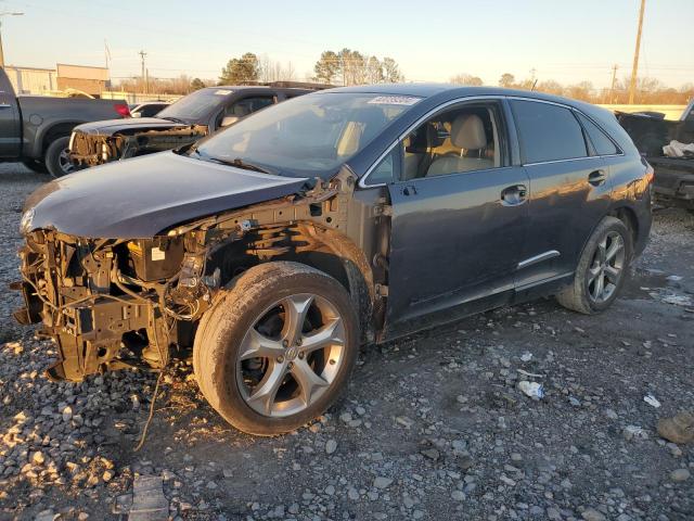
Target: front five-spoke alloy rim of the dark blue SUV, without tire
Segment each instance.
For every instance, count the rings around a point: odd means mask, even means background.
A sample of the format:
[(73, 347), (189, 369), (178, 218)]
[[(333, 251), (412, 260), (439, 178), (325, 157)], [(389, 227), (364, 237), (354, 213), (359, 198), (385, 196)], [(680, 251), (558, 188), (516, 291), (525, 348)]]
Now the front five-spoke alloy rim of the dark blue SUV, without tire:
[(260, 314), (239, 348), (241, 395), (256, 412), (292, 416), (330, 387), (345, 358), (345, 326), (326, 298), (286, 296)]

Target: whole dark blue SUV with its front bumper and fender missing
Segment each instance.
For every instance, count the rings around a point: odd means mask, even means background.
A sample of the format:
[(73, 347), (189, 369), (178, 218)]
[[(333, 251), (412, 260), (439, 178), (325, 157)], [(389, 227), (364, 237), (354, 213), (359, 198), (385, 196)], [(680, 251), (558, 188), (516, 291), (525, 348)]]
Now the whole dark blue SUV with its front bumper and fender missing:
[(615, 116), (578, 101), (312, 93), (39, 189), (15, 316), (55, 339), (55, 380), (192, 348), (227, 421), (287, 432), (336, 399), (360, 344), (542, 295), (606, 309), (646, 245), (652, 179)]

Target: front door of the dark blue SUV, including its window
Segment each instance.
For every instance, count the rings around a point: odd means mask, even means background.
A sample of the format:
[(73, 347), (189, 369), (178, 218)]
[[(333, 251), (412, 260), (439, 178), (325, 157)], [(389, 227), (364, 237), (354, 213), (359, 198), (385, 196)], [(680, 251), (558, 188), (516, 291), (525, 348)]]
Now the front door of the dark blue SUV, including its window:
[(528, 178), (510, 165), (502, 114), (497, 101), (454, 105), (399, 143), (400, 176), (388, 186), (390, 335), (511, 298)]

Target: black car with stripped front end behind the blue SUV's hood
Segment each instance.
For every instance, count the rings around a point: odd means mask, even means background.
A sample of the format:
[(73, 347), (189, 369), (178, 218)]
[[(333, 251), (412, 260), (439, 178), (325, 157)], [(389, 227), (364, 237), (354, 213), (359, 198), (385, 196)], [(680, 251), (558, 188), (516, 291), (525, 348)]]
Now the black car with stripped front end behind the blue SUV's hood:
[(222, 86), (196, 90), (157, 114), (75, 128), (69, 156), (78, 168), (194, 143), (248, 114), (311, 92), (270, 86)]

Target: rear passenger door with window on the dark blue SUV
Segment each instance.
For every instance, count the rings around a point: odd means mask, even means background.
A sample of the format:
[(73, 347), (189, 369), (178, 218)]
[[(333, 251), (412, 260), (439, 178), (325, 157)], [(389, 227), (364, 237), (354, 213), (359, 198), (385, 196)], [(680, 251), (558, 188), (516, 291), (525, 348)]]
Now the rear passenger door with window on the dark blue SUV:
[(530, 178), (528, 240), (516, 284), (524, 290), (561, 281), (611, 204), (608, 164), (590, 142), (569, 106), (511, 100), (520, 158)]

